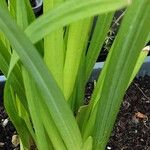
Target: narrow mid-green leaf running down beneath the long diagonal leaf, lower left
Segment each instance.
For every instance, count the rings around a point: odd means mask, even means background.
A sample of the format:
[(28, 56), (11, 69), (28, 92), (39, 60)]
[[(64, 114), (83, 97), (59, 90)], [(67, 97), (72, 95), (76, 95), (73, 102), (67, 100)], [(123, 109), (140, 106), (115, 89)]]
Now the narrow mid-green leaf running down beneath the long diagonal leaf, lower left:
[[(24, 79), (26, 96), (28, 100), (29, 111), (33, 123), (33, 128), (35, 130), (35, 142), (37, 148), (39, 150), (48, 150), (48, 140), (46, 139), (43, 122), (41, 120), (42, 116), (40, 114), (40, 99), (37, 95), (36, 86), (33, 80), (31, 80), (28, 73), (24, 70), (24, 68), (22, 68), (22, 74)], [(36, 98), (35, 95), (37, 95)]]

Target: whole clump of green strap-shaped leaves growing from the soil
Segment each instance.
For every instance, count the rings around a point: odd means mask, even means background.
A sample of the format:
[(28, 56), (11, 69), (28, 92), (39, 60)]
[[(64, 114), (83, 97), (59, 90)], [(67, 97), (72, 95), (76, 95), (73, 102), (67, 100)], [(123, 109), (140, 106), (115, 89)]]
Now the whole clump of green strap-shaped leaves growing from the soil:
[[(149, 0), (43, 2), (0, 0), (0, 69), (6, 110), (21, 149), (105, 149), (122, 97), (139, 70), (150, 33)], [(118, 34), (84, 106), (84, 88), (114, 12), (127, 7)], [(94, 16), (98, 15), (91, 40)], [(76, 113), (76, 116), (74, 116)]]

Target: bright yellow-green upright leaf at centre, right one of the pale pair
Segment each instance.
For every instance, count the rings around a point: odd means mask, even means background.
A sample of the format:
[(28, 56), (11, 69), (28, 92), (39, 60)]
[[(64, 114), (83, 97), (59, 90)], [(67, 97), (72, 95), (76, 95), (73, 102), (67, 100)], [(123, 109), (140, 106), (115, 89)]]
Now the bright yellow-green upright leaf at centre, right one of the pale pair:
[(69, 26), (63, 80), (66, 100), (69, 100), (73, 92), (80, 62), (86, 52), (91, 25), (92, 18), (88, 18)]

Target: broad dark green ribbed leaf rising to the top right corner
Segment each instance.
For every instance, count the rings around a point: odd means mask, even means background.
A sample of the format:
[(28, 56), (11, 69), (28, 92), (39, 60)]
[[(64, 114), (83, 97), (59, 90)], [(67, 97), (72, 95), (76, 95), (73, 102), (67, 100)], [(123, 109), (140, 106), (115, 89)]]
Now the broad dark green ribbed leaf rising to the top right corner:
[[(150, 20), (149, 14), (149, 0), (134, 0), (126, 11), (110, 50), (104, 66), (106, 70), (101, 74), (103, 80), (99, 79), (101, 83), (99, 81), (97, 83), (102, 84), (102, 88), (98, 90), (101, 94), (97, 97), (98, 110), (92, 134), (94, 149), (104, 149), (106, 146), (123, 95), (149, 34), (150, 22), (147, 22)], [(96, 89), (95, 91), (97, 92)], [(91, 113), (91, 118), (94, 115)]]

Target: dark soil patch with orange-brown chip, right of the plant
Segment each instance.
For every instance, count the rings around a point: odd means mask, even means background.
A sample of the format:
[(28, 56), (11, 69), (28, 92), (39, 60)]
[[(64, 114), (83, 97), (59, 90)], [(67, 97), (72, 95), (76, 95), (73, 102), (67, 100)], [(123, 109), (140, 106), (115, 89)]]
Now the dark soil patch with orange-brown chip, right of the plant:
[(150, 76), (135, 79), (108, 143), (112, 150), (150, 150)]

